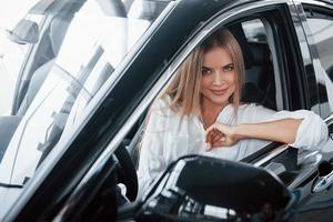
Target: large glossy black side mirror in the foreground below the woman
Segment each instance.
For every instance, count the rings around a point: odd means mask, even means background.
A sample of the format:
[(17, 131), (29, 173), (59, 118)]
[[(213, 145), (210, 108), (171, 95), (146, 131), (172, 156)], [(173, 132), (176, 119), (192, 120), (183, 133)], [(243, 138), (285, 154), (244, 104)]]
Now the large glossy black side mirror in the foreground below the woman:
[(172, 163), (145, 193), (137, 219), (279, 221), (292, 201), (286, 186), (265, 169), (189, 155)]

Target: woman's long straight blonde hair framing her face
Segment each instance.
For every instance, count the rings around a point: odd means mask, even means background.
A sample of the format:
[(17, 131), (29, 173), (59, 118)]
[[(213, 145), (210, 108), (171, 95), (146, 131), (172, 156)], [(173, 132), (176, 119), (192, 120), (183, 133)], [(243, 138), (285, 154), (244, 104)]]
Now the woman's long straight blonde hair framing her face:
[(234, 111), (240, 105), (241, 91), (244, 75), (244, 60), (241, 47), (232, 33), (226, 30), (218, 30), (205, 39), (194, 51), (185, 59), (178, 69), (175, 78), (162, 94), (169, 95), (170, 108), (179, 112), (182, 117), (192, 113), (200, 113), (200, 83), (202, 75), (203, 54), (215, 47), (221, 47), (228, 51), (232, 58), (235, 70), (235, 91), (230, 98), (234, 105)]

